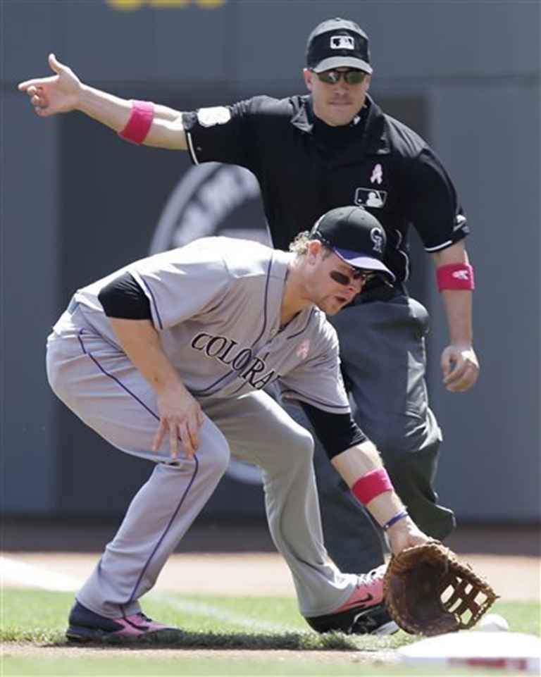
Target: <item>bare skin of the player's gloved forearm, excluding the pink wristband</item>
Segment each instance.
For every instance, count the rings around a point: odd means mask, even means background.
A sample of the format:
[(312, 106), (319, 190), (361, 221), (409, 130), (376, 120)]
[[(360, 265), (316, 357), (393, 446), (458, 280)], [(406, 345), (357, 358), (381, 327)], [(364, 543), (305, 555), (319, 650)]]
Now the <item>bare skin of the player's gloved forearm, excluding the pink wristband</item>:
[[(337, 454), (331, 462), (349, 487), (366, 473), (383, 468), (378, 449), (368, 440)], [(392, 517), (404, 511), (404, 504), (397, 492), (390, 490), (377, 495), (366, 504), (366, 508), (375, 521), (383, 526)], [(409, 516), (390, 526), (387, 535), (392, 552), (400, 552), (404, 547), (420, 545), (428, 540), (428, 536), (419, 530)]]

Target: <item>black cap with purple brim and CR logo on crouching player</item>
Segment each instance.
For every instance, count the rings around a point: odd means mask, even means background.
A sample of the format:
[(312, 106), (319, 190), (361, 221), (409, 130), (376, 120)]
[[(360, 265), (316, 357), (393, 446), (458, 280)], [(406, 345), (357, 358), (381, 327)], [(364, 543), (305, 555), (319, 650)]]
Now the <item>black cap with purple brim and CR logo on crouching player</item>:
[(387, 237), (375, 216), (362, 207), (331, 209), (314, 223), (310, 240), (319, 240), (354, 268), (383, 273), (394, 282), (394, 275), (383, 263)]

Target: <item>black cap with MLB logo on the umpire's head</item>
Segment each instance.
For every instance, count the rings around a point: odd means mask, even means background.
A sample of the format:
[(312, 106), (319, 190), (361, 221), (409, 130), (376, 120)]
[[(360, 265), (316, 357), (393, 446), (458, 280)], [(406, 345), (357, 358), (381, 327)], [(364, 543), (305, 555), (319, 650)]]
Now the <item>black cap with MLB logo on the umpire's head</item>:
[(316, 73), (359, 68), (372, 73), (368, 35), (354, 21), (337, 17), (316, 26), (306, 44), (306, 66)]

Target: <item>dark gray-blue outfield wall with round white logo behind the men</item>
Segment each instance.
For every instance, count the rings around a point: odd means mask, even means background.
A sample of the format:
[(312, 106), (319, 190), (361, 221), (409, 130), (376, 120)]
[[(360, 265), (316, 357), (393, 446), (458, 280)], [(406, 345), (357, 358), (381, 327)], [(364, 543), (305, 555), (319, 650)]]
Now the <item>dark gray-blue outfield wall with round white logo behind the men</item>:
[[(55, 51), (81, 77), (177, 108), (303, 85), (318, 21), (355, 18), (372, 41), (372, 93), (447, 163), (472, 223), (475, 390), (450, 395), (446, 328), (428, 257), (411, 288), (433, 314), (430, 391), (444, 428), (444, 502), (465, 519), (540, 516), (540, 10), (532, 2), (4, 0), (1, 22), (4, 514), (118, 515), (149, 473), (49, 392), (44, 340), (75, 287), (205, 232), (264, 237), (250, 175), (120, 142), (84, 116), (39, 120), (15, 83)], [(255, 226), (255, 227), (254, 227)], [(205, 230), (208, 228), (209, 230)], [(189, 235), (187, 235), (189, 232)], [(418, 244), (414, 240), (414, 247)], [(232, 468), (232, 476), (245, 468)], [(248, 476), (251, 480), (251, 476)], [(510, 487), (514, 487), (513, 490)], [(224, 480), (214, 520), (261, 517), (259, 485)]]

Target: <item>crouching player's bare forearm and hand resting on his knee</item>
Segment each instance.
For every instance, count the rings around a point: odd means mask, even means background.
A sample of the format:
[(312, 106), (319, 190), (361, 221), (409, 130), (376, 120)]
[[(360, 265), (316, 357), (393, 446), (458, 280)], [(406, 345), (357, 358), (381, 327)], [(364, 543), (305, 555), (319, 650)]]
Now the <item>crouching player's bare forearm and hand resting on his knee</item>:
[(180, 446), (193, 456), (199, 448), (203, 414), (163, 351), (158, 332), (149, 320), (108, 319), (125, 354), (156, 392), (160, 421), (152, 450), (157, 452), (168, 437), (173, 459)]

